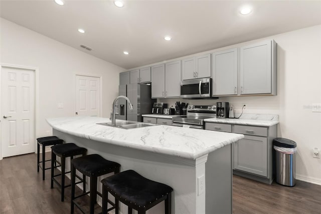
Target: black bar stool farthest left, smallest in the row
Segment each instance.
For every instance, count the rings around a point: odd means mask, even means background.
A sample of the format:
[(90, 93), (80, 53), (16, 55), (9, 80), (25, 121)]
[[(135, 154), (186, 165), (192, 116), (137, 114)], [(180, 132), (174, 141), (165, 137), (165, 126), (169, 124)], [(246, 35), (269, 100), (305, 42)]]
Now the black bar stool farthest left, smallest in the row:
[[(57, 144), (62, 144), (64, 141), (57, 138), (56, 136), (37, 138), (37, 171), (39, 172), (39, 167), (42, 169), (42, 179), (45, 180), (45, 170), (50, 169), (46, 168), (45, 163), (50, 160), (46, 160), (46, 146), (52, 146)], [(40, 161), (40, 145), (42, 146), (42, 161)], [(40, 163), (42, 163), (40, 165)]]

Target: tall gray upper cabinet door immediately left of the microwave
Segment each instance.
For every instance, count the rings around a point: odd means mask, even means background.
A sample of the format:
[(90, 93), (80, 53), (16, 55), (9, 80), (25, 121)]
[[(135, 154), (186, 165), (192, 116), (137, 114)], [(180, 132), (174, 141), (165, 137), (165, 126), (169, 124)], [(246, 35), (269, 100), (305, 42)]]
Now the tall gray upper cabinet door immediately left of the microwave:
[(181, 60), (165, 64), (165, 96), (181, 95)]

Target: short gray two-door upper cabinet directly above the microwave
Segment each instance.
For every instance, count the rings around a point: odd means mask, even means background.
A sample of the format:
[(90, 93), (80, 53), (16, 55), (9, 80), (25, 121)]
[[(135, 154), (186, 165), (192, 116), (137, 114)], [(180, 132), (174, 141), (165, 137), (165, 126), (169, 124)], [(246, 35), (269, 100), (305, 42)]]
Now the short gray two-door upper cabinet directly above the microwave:
[(211, 76), (211, 54), (182, 60), (182, 79), (196, 79)]

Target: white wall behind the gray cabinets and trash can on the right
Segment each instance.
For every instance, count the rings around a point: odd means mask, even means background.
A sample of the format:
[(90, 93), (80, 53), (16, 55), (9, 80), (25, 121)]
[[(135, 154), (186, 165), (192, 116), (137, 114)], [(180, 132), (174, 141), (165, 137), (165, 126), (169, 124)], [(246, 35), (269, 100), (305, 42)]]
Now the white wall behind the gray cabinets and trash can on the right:
[[(297, 143), (296, 177), (321, 185), (321, 159), (312, 157), (312, 148), (321, 149), (321, 113), (311, 111), (312, 103), (321, 103), (321, 26), (260, 40), (265, 39), (274, 39), (278, 45), (276, 96), (222, 97), (218, 100), (172, 98), (158, 101), (170, 105), (175, 105), (178, 100), (193, 104), (228, 101), (234, 105), (236, 113), (241, 113), (242, 104), (246, 103), (244, 113), (279, 115), (278, 137)], [(228, 48), (232, 47), (235, 45)], [(226, 48), (216, 50), (223, 49)]]

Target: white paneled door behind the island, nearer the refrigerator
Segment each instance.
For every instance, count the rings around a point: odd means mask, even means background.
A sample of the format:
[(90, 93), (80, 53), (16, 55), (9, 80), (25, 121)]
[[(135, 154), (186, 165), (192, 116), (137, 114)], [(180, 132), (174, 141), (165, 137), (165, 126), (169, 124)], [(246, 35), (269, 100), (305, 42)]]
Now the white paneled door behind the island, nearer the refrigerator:
[(100, 78), (76, 75), (76, 115), (100, 116)]

